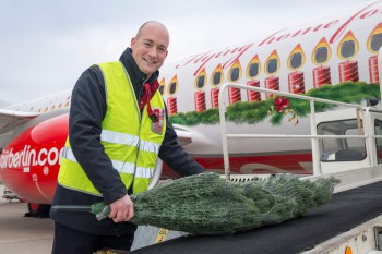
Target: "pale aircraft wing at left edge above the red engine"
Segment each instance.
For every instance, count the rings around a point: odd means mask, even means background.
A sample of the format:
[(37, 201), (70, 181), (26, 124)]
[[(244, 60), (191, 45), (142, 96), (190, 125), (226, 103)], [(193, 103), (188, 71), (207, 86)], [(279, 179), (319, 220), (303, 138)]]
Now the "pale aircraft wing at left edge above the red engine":
[(23, 124), (39, 113), (36, 112), (22, 112), (8, 109), (0, 109), (0, 134), (10, 131), (11, 129)]

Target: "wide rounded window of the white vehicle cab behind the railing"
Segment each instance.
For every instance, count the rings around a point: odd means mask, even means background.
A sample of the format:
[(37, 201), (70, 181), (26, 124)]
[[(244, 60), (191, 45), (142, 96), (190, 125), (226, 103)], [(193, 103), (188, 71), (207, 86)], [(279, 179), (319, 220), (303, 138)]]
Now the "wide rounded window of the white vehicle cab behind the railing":
[[(363, 135), (363, 125), (356, 119), (323, 122), (318, 125), (319, 135)], [(361, 137), (321, 138), (321, 161), (357, 161), (366, 158), (366, 143)]]

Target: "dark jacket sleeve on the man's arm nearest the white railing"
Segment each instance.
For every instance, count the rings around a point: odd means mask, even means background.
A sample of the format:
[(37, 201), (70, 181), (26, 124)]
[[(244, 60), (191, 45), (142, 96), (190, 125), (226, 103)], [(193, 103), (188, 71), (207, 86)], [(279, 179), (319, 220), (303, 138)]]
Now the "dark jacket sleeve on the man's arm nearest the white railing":
[(166, 113), (166, 134), (159, 149), (159, 158), (182, 177), (205, 172), (205, 169), (178, 144), (177, 138)]

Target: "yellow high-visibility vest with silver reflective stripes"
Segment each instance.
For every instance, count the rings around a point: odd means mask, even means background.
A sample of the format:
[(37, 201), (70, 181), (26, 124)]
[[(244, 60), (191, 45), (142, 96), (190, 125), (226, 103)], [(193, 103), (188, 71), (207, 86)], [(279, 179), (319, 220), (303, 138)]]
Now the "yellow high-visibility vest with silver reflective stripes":
[[(166, 132), (164, 100), (159, 92), (150, 100), (158, 119), (153, 122), (147, 114), (147, 106), (143, 108), (141, 116), (134, 88), (123, 64), (116, 61), (102, 63), (99, 68), (105, 78), (107, 102), (100, 143), (126, 188), (133, 184), (133, 193), (143, 192), (147, 190), (153, 177)], [(58, 182), (71, 190), (102, 196), (76, 161), (69, 137), (61, 158)]]

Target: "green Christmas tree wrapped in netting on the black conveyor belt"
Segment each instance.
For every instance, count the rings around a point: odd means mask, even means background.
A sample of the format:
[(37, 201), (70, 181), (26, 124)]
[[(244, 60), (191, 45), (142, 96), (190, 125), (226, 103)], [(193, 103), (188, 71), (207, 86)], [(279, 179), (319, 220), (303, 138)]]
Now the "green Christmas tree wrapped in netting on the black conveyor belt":
[[(229, 182), (217, 173), (167, 180), (132, 195), (131, 222), (192, 234), (232, 234), (303, 216), (331, 201), (335, 178), (314, 182), (297, 178), (270, 178)], [(98, 219), (110, 210), (105, 203), (92, 206)]]

